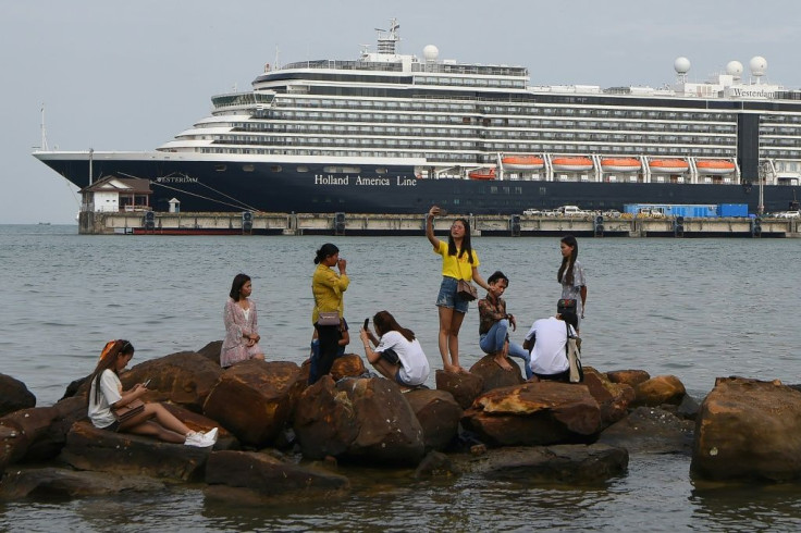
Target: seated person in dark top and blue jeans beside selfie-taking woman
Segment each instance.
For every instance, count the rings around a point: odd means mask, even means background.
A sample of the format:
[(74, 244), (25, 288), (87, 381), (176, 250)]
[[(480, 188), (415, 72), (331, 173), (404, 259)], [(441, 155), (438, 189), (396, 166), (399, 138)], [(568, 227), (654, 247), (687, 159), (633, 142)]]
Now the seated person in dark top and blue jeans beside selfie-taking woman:
[(513, 370), (507, 356), (523, 360), (526, 379), (531, 379), (531, 362), (529, 352), (522, 346), (509, 340), (509, 326), (517, 329), (515, 315), (506, 312), (506, 301), (503, 296), (509, 286), (509, 278), (501, 271), (495, 271), (486, 278), (490, 290), (486, 297), (479, 300), (479, 346), (484, 354), (494, 355), (493, 360), (504, 370)]

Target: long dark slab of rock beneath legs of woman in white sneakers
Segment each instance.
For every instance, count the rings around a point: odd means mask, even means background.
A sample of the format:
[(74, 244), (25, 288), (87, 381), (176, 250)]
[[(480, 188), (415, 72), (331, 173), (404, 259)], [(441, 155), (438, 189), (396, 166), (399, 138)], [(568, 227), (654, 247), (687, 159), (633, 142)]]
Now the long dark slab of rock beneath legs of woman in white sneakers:
[(98, 430), (84, 421), (73, 424), (60, 459), (78, 470), (197, 481), (210, 453), (210, 448)]

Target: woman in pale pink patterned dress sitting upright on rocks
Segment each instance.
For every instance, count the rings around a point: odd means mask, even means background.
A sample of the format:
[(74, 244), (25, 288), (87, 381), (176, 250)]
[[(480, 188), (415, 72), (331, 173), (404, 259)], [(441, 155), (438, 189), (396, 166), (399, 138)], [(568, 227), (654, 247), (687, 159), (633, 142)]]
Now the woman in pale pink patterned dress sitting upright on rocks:
[(225, 302), (223, 322), (225, 340), (220, 350), (220, 367), (231, 367), (248, 359), (264, 360), (259, 346), (259, 321), (256, 302), (250, 299), (252, 284), (247, 274), (236, 274), (231, 284), (231, 293)]

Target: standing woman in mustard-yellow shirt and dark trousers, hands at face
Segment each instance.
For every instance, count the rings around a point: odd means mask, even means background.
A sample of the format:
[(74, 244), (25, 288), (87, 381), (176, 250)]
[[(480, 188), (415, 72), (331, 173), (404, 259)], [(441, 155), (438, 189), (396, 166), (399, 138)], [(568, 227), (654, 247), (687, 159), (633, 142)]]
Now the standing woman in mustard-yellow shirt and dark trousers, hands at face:
[[(320, 340), (320, 350), (318, 359), (312, 361), (309, 369), (309, 385), (316, 383), (320, 376), (331, 372), (331, 365), (340, 349), (340, 323), (345, 311), (343, 302), (343, 293), (347, 290), (350, 278), (347, 276), (347, 261), (340, 258), (340, 249), (326, 243), (317, 250), (315, 257), (315, 275), (311, 278), (311, 294), (315, 296), (315, 310), (311, 313), (311, 322), (317, 330), (317, 336)], [(331, 270), (336, 266), (340, 273)], [(319, 318), (321, 312), (336, 312), (340, 317), (340, 323), (320, 324)]]

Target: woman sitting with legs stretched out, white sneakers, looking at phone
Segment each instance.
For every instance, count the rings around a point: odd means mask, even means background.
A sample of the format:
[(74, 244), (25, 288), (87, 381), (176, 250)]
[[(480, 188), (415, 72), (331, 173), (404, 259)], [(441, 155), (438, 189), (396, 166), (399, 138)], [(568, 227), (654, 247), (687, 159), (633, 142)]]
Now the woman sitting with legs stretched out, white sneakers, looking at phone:
[(95, 372), (89, 376), (88, 414), (95, 427), (119, 433), (155, 436), (167, 443), (206, 448), (217, 442), (217, 427), (204, 433), (192, 431), (161, 404), (145, 402), (144, 410), (121, 422), (113, 409), (140, 398), (148, 389), (137, 383), (130, 391), (122, 389), (119, 374), (134, 357), (134, 346), (124, 339), (106, 344)]

